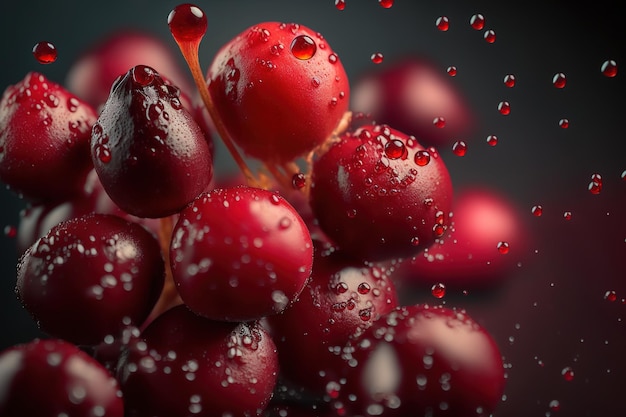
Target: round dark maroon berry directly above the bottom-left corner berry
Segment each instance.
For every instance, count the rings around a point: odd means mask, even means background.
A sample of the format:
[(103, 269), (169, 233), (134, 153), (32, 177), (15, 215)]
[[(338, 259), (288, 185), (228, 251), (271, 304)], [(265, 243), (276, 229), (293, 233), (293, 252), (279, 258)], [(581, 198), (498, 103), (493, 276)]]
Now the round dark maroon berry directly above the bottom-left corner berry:
[(16, 291), (42, 331), (95, 345), (140, 325), (163, 281), (161, 249), (150, 232), (90, 214), (56, 225), (26, 251)]

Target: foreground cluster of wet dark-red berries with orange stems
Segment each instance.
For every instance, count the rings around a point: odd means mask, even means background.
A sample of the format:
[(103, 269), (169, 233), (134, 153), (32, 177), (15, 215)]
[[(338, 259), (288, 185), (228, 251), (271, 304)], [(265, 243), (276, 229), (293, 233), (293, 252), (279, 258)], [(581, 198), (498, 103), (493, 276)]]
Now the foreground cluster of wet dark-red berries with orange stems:
[[(0, 415), (492, 413), (490, 334), (395, 287), (452, 230), (435, 148), (351, 112), (320, 33), (260, 23), (205, 75), (202, 10), (168, 23), (198, 96), (175, 68), (107, 68), (140, 59), (126, 34), (71, 88), (32, 72), (2, 97), (0, 180), (31, 204), (16, 291), (50, 338), (0, 354)], [(214, 178), (216, 135), (242, 178)]]

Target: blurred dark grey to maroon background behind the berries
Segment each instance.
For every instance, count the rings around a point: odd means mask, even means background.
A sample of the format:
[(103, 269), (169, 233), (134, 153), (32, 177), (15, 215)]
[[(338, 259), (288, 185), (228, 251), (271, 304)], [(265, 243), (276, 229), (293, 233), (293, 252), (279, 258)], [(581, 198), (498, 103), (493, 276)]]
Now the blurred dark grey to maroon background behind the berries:
[[(385, 63), (414, 53), (434, 60), (442, 71), (456, 66), (455, 82), (480, 126), (475, 137), (465, 138), (465, 157), (441, 150), (453, 182), (488, 185), (507, 194), (528, 213), (534, 236), (528, 259), (501, 288), (445, 299), (449, 306), (467, 308), (501, 345), (510, 369), (506, 400), (496, 416), (543, 416), (552, 400), (561, 404), (553, 415), (626, 415), (626, 181), (620, 178), (626, 170), (624, 14), (607, 2), (533, 7), (527, 2), (397, 0), (384, 10), (376, 0), (346, 1), (342, 12), (333, 0), (199, 2), (209, 19), (201, 62), (206, 68), (217, 48), (247, 26), (278, 20), (324, 34), (351, 79), (372, 69), (369, 57), (379, 51)], [(153, 31), (175, 48), (166, 18), (177, 2), (53, 3), (3, 5), (2, 88), (30, 70), (62, 83), (78, 54), (116, 28)], [(495, 44), (469, 27), (477, 12), (486, 17), (486, 28), (496, 31)], [(435, 28), (442, 15), (450, 19), (446, 33)], [(44, 67), (33, 59), (31, 49), (40, 40), (55, 43), (56, 63)], [(600, 74), (608, 58), (620, 65), (614, 79)], [(567, 74), (564, 90), (551, 85), (556, 72)], [(518, 79), (513, 89), (502, 84), (507, 73)], [(496, 111), (501, 100), (513, 106), (508, 117)], [(567, 130), (557, 125), (562, 117), (571, 122)], [(495, 148), (486, 145), (488, 134), (500, 138)], [(218, 153), (220, 169), (229, 161)], [(586, 191), (595, 172), (604, 178), (599, 196)], [(18, 224), (23, 202), (6, 190), (0, 190), (0, 202), (0, 226)], [(531, 218), (535, 204), (544, 207), (540, 219)], [(571, 222), (562, 219), (566, 210), (573, 212)], [(0, 236), (0, 253), (1, 348), (38, 333), (12, 292), (14, 241)], [(607, 290), (617, 292), (616, 302), (604, 300)], [(420, 293), (413, 300), (434, 302)], [(571, 382), (561, 377), (565, 366), (576, 372)]]

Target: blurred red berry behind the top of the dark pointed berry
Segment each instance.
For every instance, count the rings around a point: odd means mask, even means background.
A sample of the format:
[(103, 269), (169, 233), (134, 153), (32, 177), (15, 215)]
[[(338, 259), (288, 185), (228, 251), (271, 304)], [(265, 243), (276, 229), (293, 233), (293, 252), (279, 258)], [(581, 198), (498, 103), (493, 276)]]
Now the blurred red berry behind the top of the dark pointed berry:
[(70, 67), (65, 84), (68, 90), (99, 108), (106, 102), (118, 77), (136, 65), (148, 65), (190, 93), (189, 77), (177, 65), (177, 59), (172, 48), (153, 33), (117, 30), (83, 51)]

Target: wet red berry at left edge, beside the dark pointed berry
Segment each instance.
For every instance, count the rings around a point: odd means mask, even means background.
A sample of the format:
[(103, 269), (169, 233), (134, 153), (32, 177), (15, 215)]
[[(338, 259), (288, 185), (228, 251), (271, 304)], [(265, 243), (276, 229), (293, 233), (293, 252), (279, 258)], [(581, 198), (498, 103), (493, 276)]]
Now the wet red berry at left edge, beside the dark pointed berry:
[(91, 169), (95, 110), (37, 72), (0, 101), (0, 181), (31, 202), (80, 193)]

